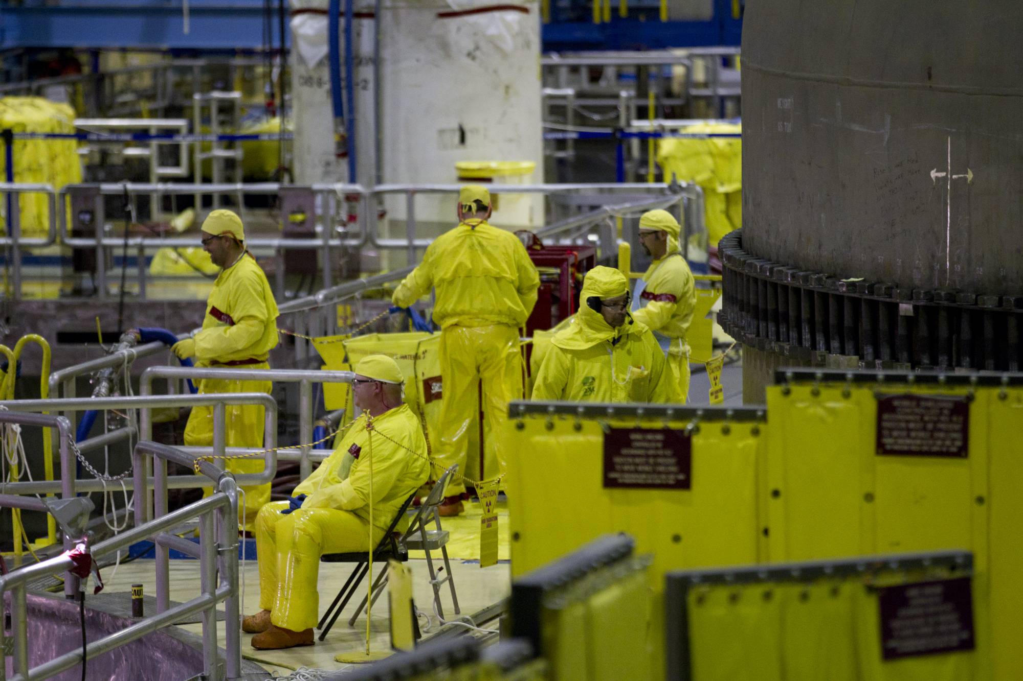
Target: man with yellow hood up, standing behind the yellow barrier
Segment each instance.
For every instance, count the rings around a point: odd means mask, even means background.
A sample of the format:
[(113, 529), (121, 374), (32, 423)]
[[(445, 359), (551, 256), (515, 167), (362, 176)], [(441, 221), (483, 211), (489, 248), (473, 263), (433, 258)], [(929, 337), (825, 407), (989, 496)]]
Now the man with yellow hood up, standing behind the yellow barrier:
[(586, 273), (579, 312), (554, 334), (533, 383), (534, 400), (678, 401), (654, 334), (629, 315), (629, 284), (610, 267)]

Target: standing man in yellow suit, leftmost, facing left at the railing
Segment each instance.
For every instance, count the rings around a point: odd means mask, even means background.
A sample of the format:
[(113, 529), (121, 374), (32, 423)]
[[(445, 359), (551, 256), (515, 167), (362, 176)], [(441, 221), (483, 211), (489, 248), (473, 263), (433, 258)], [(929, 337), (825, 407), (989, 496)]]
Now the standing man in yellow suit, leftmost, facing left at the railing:
[[(196, 366), (211, 368), (269, 369), (267, 357), (277, 345), (277, 303), (266, 274), (244, 245), (241, 219), (231, 211), (213, 211), (203, 223), (203, 248), (221, 268), (210, 291), (203, 330), (179, 340), (171, 349), (181, 359), (194, 357)], [(208, 393), (269, 393), (269, 380), (206, 378), (201, 395)], [(259, 405), (228, 405), (225, 435), (228, 447), (263, 447), (264, 409)], [(213, 445), (213, 407), (193, 407), (185, 425), (186, 447)], [(263, 458), (228, 459), (235, 473), (263, 471)], [(246, 486), (238, 521), (252, 530), (256, 513), (270, 501), (270, 484)], [(209, 490), (207, 494), (209, 494)]]

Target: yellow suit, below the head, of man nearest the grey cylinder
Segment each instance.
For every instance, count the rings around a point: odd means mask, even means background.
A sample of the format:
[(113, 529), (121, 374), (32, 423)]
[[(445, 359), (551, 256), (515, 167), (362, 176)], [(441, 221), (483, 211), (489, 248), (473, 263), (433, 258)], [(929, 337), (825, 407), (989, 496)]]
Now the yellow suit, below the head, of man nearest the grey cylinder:
[(667, 347), (668, 366), (684, 403), (690, 395), (690, 345), (685, 332), (697, 304), (696, 282), (685, 259), (669, 252), (651, 263), (642, 275), (643, 287), (635, 298), (632, 317), (654, 331), (662, 349)]

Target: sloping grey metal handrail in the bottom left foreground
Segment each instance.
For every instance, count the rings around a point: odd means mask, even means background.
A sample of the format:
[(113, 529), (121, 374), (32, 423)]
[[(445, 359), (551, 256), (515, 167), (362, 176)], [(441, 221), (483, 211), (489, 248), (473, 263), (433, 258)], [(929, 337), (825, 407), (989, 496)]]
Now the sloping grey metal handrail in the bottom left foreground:
[[(148, 445), (152, 445), (152, 443), (148, 443)], [(164, 461), (168, 459), (177, 460), (178, 458), (173, 451), (169, 452), (159, 446), (146, 448), (142, 443), (140, 443), (140, 446), (146, 452)], [(167, 449), (172, 450), (172, 448)], [(205, 472), (208, 475), (211, 474), (209, 470)], [(84, 651), (85, 660), (94, 659), (137, 640), (158, 629), (171, 626), (182, 617), (202, 612), (205, 673), (208, 678), (216, 678), (220, 663), (217, 648), (216, 607), (218, 603), (223, 601), (226, 621), (225, 671), (229, 678), (240, 676), (238, 552), (235, 531), (237, 488), (233, 478), (229, 473), (219, 474), (217, 487), (218, 491), (211, 497), (196, 501), (174, 512), (161, 515), (149, 523), (116, 535), (91, 548), (90, 552), (93, 559), (112, 555), (138, 541), (157, 538), (162, 533), (166, 533), (187, 520), (199, 518), (199, 596), (174, 607), (161, 608), (158, 605), (157, 615), (145, 618), (126, 629), (89, 643)], [(2, 502), (3, 499), (0, 499), (0, 505), (2, 505)], [(50, 558), (0, 577), (0, 599), (3, 598), (3, 595), (7, 591), (12, 592), (11, 610), (14, 639), (14, 675), (11, 677), (12, 680), (46, 679), (83, 662), (83, 650), (76, 648), (43, 665), (31, 670), (29, 669), (28, 605), (26, 599), (28, 584), (30, 581), (40, 577), (70, 571), (73, 566), (73, 559), (64, 553), (55, 558)], [(219, 583), (217, 581), (218, 571), (220, 576)], [(158, 588), (159, 586), (160, 576), (158, 575)], [(3, 632), (0, 630), (0, 643), (3, 642), (4, 638)], [(0, 667), (0, 679), (5, 678), (5, 669)]]

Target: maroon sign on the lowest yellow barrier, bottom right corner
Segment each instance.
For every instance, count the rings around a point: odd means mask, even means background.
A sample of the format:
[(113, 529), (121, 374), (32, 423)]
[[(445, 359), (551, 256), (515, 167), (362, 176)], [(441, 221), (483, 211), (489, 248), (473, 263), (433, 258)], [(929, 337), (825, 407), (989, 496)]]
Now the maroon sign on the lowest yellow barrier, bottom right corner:
[(969, 577), (885, 587), (878, 602), (885, 660), (974, 648)]

